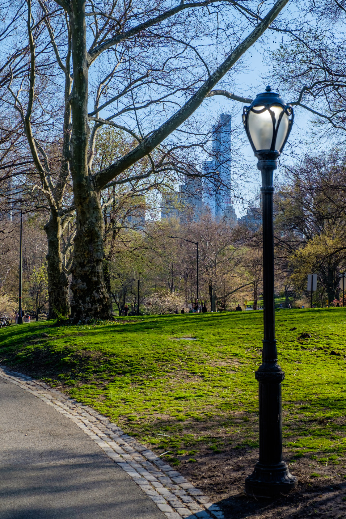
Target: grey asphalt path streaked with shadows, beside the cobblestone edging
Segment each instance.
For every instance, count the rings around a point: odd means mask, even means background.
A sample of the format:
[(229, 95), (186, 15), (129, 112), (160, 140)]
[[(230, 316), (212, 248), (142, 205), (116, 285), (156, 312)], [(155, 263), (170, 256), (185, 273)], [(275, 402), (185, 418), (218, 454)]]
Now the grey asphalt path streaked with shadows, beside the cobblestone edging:
[(71, 420), (0, 377), (0, 519), (166, 519)]

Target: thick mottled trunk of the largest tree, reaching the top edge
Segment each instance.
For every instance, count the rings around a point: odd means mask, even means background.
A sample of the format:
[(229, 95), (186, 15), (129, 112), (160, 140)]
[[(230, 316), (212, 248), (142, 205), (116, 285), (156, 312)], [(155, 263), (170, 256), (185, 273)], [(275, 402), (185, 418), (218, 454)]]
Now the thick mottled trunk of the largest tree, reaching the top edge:
[(84, 0), (71, 2), (73, 89), (70, 168), (76, 208), (72, 263), (71, 319), (110, 319), (109, 296), (103, 278), (104, 221), (100, 193), (88, 171), (88, 62)]

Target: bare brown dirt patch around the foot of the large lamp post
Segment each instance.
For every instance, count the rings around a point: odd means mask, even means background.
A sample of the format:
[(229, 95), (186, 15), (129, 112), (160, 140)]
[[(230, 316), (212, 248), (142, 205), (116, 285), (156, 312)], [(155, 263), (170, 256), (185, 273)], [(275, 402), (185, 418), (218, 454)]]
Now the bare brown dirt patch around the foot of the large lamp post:
[[(323, 455), (317, 454), (317, 458), (323, 459)], [(311, 459), (309, 454), (296, 458), (292, 452), (285, 452), (284, 459), (288, 462), (289, 470), (298, 477), (298, 487), (288, 496), (278, 499), (255, 500), (244, 493), (245, 477), (251, 473), (258, 460), (256, 449), (226, 446), (222, 453), (215, 454), (200, 445), (199, 454), (185, 456), (178, 470), (222, 507), (226, 519), (346, 517), (346, 471), (343, 458), (336, 462), (327, 460), (325, 463)]]

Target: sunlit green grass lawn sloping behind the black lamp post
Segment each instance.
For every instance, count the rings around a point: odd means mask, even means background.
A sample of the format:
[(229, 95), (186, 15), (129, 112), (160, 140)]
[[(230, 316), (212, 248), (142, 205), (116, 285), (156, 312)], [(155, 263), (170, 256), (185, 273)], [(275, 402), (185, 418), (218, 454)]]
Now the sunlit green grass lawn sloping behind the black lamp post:
[[(346, 450), (346, 309), (275, 317), (286, 450), (337, 462)], [(253, 311), (11, 326), (0, 330), (0, 362), (93, 406), (178, 465), (202, 447), (258, 446), (262, 318)], [(311, 338), (300, 338), (306, 332)], [(176, 340), (186, 337), (196, 340)]]

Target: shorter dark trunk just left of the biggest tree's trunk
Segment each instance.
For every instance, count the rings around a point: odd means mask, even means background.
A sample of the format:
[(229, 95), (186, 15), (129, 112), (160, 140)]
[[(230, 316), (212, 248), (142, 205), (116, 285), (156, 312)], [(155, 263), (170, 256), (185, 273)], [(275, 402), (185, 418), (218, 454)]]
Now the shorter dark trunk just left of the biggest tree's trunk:
[(52, 213), (49, 222), (44, 228), (48, 241), (48, 253), (46, 256), (49, 296), (48, 319), (61, 316), (68, 317), (70, 315), (68, 278), (63, 271), (60, 218)]

